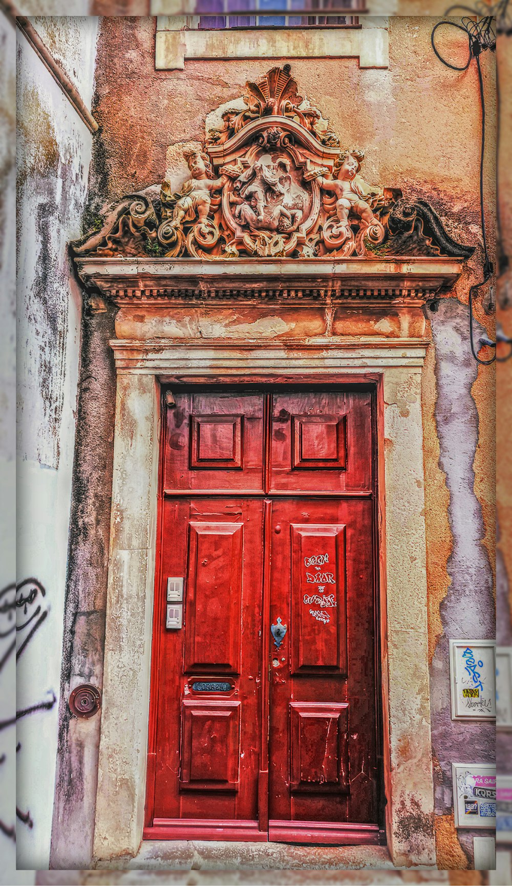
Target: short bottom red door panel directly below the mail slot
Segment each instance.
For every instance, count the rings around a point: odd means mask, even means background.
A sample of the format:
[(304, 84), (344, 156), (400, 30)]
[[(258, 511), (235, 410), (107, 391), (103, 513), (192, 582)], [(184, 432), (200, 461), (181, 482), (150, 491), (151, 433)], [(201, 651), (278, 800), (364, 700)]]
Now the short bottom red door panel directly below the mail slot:
[(240, 702), (182, 704), (181, 790), (237, 790)]

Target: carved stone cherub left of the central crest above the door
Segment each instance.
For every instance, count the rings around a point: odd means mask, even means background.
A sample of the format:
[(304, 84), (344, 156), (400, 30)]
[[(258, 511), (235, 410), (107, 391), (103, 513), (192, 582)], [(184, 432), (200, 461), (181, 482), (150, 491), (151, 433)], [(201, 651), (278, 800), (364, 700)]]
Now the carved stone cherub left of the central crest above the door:
[(222, 167), (221, 176), (217, 178), (213, 172), (208, 155), (202, 151), (184, 151), (192, 176), (182, 186), (182, 190), (173, 193), (170, 184), (165, 181), (160, 189), (162, 216), (170, 218), (170, 227), (181, 229), (186, 222), (197, 221), (199, 231), (207, 233), (206, 220), (212, 205), (213, 191), (222, 190), (229, 178), (236, 178), (239, 167)]

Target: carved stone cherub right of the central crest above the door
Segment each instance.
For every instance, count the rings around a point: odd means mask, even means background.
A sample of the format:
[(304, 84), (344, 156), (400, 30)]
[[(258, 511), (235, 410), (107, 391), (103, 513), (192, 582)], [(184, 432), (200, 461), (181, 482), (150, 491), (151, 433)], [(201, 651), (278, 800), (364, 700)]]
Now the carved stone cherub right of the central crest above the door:
[(348, 216), (352, 212), (359, 215), (366, 226), (379, 224), (374, 214), (374, 209), (380, 204), (382, 190), (368, 184), (361, 178), (359, 172), (364, 159), (362, 151), (342, 151), (334, 162), (334, 178), (326, 178), (320, 170), (308, 170), (306, 180), (316, 178), (322, 190), (332, 193), (336, 199), (336, 214), (338, 224), (332, 227), (334, 237), (343, 236), (352, 238), (352, 231)]

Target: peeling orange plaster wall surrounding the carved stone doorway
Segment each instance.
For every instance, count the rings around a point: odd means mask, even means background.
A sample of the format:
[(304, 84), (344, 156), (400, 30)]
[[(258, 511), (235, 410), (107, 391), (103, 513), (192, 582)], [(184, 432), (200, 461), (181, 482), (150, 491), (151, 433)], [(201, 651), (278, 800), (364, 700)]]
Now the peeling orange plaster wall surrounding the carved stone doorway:
[[(247, 79), (254, 79), (279, 61), (267, 59), (185, 62), (182, 72), (155, 71), (154, 19), (104, 19), (98, 43), (96, 93), (93, 113), (102, 126), (93, 148), (85, 221), (94, 223), (107, 203), (127, 192), (159, 183), (170, 166), (179, 183), (182, 144), (199, 140), (206, 115), (239, 97)], [(292, 74), (301, 94), (317, 103), (330, 125), (347, 145), (364, 148), (364, 175), (368, 181), (401, 187), (405, 193), (429, 200), (446, 229), (464, 243), (478, 244), (477, 199), (480, 115), (477, 73), (471, 66), (456, 74), (442, 66), (431, 51), (432, 23), (424, 19), (392, 19), (388, 70), (361, 70), (354, 59), (296, 59)], [(290, 33), (290, 40), (302, 39)], [(443, 36), (441, 48), (461, 63), (466, 43)], [(283, 58), (282, 61), (286, 61)], [(487, 96), (487, 124), (493, 142), (493, 57), (483, 60)], [(169, 162), (172, 161), (172, 162)], [(485, 160), (486, 212), (493, 217), (494, 159), (492, 144)], [(492, 240), (492, 234), (490, 235)], [(425, 424), (425, 498), (431, 649), (432, 750), (436, 764), (436, 830), (438, 864), (470, 867), (472, 834), (454, 831), (451, 762), (471, 756), (492, 761), (493, 728), (452, 722), (450, 717), (448, 640), (451, 637), (493, 636), (493, 369), (481, 368), (469, 352), (467, 293), (479, 275), (477, 248), (462, 278), (443, 300), (437, 314), (427, 312), (433, 344), (423, 379)], [(212, 318), (198, 322), (205, 327)], [(477, 303), (476, 338), (485, 329), (493, 335), (493, 318)], [(279, 335), (279, 318), (272, 336)], [(106, 323), (106, 321), (105, 321)], [(253, 324), (256, 337), (268, 338), (268, 323)], [(106, 327), (105, 327), (106, 330)], [(341, 331), (341, 330), (339, 330)], [(106, 372), (109, 346), (98, 338), (96, 359)], [(111, 379), (105, 375), (109, 386)], [(110, 390), (110, 387), (109, 387)], [(98, 394), (99, 395), (99, 394)], [(95, 395), (96, 396), (96, 395)], [(95, 398), (84, 404), (96, 408)], [(105, 447), (112, 433), (112, 416), (102, 418)], [(110, 451), (110, 450), (109, 450)], [(112, 452), (110, 454), (112, 458)], [(94, 493), (94, 484), (89, 487)], [(80, 496), (80, 487), (77, 491)], [(392, 491), (388, 490), (388, 494)], [(78, 501), (78, 500), (77, 500)], [(77, 504), (78, 507), (78, 504)], [(90, 516), (90, 501), (86, 510)], [(87, 615), (87, 582), (76, 591), (74, 607), (83, 610), (81, 634), (74, 635), (69, 617), (63, 680), (78, 673), (79, 663), (101, 679), (101, 632), (98, 611), (105, 601), (106, 570), (102, 565), (108, 508), (97, 513), (97, 539), (89, 533), (77, 544), (70, 569), (79, 571), (86, 556), (97, 557), (94, 572), (97, 598)], [(85, 521), (87, 523), (87, 520)], [(73, 543), (73, 542), (72, 542)], [(88, 547), (89, 546), (89, 547)], [(87, 555), (89, 551), (89, 555)], [(72, 587), (70, 585), (70, 587)], [(83, 603), (83, 605), (82, 605)], [(89, 627), (87, 623), (89, 621)], [(68, 632), (68, 633), (67, 633)], [(83, 640), (82, 640), (83, 638)], [(85, 644), (85, 645), (84, 645)], [(84, 649), (86, 651), (84, 652)], [(92, 731), (92, 730), (91, 730)], [(59, 821), (76, 813), (78, 822), (94, 815), (90, 785), (74, 801), (69, 785), (80, 771), (81, 740), (68, 741), (66, 711), (60, 722), (61, 773), (58, 783), (59, 843), (56, 867), (65, 867), (72, 851)], [(72, 736), (73, 737), (73, 736)], [(89, 735), (88, 766), (96, 760), (96, 738)], [(74, 748), (79, 750), (75, 753)], [(85, 759), (85, 757), (84, 757)], [(89, 797), (89, 798), (88, 798)], [(480, 834), (485, 832), (479, 832)], [(58, 834), (60, 836), (58, 836)], [(86, 841), (89, 840), (89, 830)], [(57, 843), (56, 843), (57, 845)], [(87, 853), (84, 853), (86, 855)], [(469, 874), (467, 874), (469, 876)]]

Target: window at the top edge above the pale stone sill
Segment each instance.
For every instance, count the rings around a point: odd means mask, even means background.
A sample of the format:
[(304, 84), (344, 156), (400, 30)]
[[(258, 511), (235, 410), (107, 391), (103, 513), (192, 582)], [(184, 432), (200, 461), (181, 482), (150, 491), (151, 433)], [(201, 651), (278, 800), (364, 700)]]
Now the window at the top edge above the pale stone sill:
[[(349, 12), (350, 11), (350, 12)], [(365, 0), (196, 0), (198, 27), (354, 27)]]

